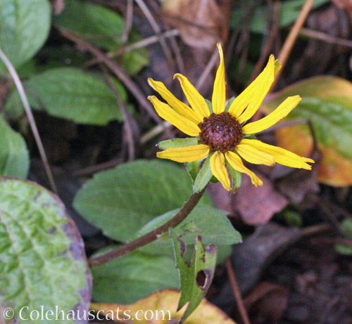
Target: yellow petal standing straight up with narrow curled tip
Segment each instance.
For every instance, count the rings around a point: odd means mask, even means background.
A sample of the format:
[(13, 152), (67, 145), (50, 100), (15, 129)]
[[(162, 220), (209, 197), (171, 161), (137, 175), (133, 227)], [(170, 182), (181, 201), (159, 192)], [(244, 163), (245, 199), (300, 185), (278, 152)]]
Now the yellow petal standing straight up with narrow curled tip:
[(220, 55), (220, 65), (218, 71), (216, 72), (213, 97), (211, 99), (213, 103), (213, 112), (215, 114), (221, 114), (225, 111), (225, 101), (226, 101), (226, 85), (225, 85), (225, 64), (224, 64), (224, 54), (222, 53), (221, 44), (218, 43), (218, 50)]

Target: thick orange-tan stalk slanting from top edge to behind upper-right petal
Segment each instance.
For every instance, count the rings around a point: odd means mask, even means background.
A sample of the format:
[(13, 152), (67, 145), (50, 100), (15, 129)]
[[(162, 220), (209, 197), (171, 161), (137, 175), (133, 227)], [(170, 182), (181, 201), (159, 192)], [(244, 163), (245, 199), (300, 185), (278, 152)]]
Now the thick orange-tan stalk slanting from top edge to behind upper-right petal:
[(294, 43), (296, 42), (298, 34), (299, 32), (301, 32), (304, 22), (306, 22), (308, 14), (310, 13), (310, 10), (313, 6), (313, 2), (314, 0), (306, 0), (306, 3), (301, 8), (301, 12), (297, 17), (296, 22), (294, 22), (293, 27), (291, 28), (289, 34), (287, 35), (287, 39), (284, 41), (284, 45), (282, 46), (282, 49), (278, 56), (278, 59), (282, 64), (282, 68), (279, 70), (279, 72), (277, 72), (275, 80), (271, 86), (271, 91), (273, 91), (275, 89), (275, 86), (277, 85), (279, 77), (282, 74), (282, 70), (284, 70), (284, 67), (289, 58), (289, 54), (291, 53), (292, 48), (294, 47)]

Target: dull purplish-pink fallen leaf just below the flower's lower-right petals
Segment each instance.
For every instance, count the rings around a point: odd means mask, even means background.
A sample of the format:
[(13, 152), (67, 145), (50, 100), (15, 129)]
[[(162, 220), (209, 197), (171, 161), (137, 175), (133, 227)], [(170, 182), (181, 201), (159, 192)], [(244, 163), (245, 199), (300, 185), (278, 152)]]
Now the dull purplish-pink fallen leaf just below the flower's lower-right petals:
[(289, 201), (275, 190), (268, 178), (258, 171), (256, 174), (263, 180), (263, 186), (255, 187), (248, 176), (243, 176), (241, 188), (234, 195), (229, 195), (220, 183), (210, 183), (208, 188), (215, 206), (230, 214), (239, 214), (251, 225), (268, 223)]

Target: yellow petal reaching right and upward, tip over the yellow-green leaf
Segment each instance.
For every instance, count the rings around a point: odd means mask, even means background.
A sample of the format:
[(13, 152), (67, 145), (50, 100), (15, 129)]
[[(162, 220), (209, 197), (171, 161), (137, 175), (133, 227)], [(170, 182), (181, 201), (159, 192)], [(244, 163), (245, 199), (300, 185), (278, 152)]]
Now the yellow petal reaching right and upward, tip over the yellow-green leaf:
[(259, 131), (263, 131), (264, 129), (272, 127), (272, 125), (275, 125), (277, 122), (279, 122), (280, 119), (289, 115), (289, 112), (291, 112), (291, 110), (294, 109), (300, 101), (300, 96), (293, 96), (287, 98), (283, 103), (281, 103), (281, 105), (279, 105), (279, 107), (277, 107), (268, 116), (265, 116), (262, 119), (257, 120), (256, 122), (246, 124), (242, 128), (243, 133), (256, 134)]

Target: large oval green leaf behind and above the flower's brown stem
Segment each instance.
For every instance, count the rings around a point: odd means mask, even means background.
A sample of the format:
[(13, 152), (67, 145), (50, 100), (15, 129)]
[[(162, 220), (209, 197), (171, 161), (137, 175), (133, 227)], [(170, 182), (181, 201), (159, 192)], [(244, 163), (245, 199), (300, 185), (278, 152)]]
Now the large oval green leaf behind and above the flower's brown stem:
[[(138, 160), (95, 174), (74, 206), (109, 238), (126, 242), (142, 226), (191, 196), (187, 171), (162, 160)], [(210, 205), (208, 195), (201, 202)]]

